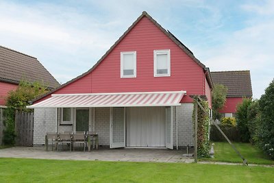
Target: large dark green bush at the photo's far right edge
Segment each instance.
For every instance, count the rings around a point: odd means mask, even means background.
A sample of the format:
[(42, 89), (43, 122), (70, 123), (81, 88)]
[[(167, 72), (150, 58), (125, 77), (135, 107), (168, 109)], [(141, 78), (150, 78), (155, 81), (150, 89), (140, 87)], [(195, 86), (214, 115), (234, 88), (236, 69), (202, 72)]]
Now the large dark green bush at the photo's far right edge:
[(260, 147), (274, 160), (274, 80), (266, 88), (259, 101), (260, 129), (258, 138)]

